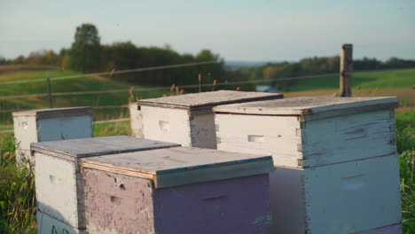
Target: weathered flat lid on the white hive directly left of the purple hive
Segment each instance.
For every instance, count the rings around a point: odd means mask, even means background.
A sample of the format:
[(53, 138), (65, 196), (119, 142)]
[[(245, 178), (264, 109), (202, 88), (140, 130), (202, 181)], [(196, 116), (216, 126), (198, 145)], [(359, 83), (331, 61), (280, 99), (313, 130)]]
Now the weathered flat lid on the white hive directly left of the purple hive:
[(180, 144), (153, 141), (132, 136), (104, 136), (32, 143), (30, 144), (30, 149), (32, 152), (42, 152), (59, 158), (74, 160), (74, 158), (177, 146), (180, 146)]

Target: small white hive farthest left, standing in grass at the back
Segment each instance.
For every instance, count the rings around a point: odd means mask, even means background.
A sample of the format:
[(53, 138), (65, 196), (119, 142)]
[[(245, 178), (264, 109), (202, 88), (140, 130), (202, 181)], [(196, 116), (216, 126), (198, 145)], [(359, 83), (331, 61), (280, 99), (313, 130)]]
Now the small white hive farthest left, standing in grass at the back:
[[(43, 109), (12, 113), (16, 160), (34, 168), (30, 154), (34, 142), (92, 137), (92, 107)], [(30, 165), (29, 165), (30, 164)]]

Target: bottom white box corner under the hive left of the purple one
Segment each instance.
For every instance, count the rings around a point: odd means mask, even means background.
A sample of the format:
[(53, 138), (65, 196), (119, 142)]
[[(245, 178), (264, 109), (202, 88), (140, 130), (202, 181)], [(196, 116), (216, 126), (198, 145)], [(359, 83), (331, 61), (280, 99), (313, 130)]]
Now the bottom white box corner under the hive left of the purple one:
[(42, 211), (36, 212), (37, 234), (87, 234), (86, 230), (78, 230), (52, 218)]

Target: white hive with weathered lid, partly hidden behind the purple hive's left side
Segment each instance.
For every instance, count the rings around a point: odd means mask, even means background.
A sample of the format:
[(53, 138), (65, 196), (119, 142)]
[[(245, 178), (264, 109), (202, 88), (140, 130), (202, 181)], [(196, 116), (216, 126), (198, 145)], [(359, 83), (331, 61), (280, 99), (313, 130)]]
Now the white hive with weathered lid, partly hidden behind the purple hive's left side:
[[(137, 152), (179, 144), (132, 136), (106, 136), (35, 143), (35, 191), (38, 233), (87, 233), (80, 160), (86, 157)], [(54, 232), (53, 232), (54, 233)]]

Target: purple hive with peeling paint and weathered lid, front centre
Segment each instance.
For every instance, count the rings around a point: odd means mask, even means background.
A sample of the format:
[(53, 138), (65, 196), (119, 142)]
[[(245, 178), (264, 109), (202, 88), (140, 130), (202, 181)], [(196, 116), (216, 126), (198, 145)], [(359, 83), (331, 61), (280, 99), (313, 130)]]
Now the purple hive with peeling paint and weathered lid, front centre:
[(178, 147), (82, 159), (90, 233), (269, 233), (272, 158)]

